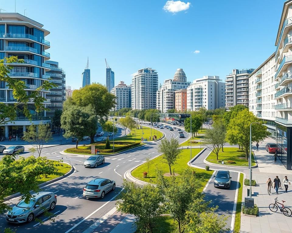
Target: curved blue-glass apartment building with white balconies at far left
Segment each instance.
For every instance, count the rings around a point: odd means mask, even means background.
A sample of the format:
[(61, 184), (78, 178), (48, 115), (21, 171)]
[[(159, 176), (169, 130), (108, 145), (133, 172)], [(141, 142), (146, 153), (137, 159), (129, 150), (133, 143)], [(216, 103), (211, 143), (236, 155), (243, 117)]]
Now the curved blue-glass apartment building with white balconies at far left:
[[(10, 77), (21, 79), (26, 83), (26, 91), (29, 93), (43, 84), (44, 80), (50, 78), (46, 74), (50, 65), (45, 61), (50, 59), (46, 49), (50, 48), (50, 42), (45, 36), (50, 32), (43, 29), (43, 25), (18, 13), (0, 13), (0, 59), (9, 56), (18, 56), (24, 59), (24, 63), (11, 64), (13, 69)], [(42, 90), (40, 95), (46, 98), (48, 90)], [(0, 101), (5, 104), (15, 104), (12, 90), (8, 89), (6, 83), (0, 81)], [(48, 107), (50, 100), (46, 100), (45, 107)], [(33, 100), (28, 103), (29, 111), (32, 114), (32, 121), (29, 121), (21, 111), (17, 113), (14, 122), (0, 125), (0, 137), (9, 136), (16, 140), (22, 136), (26, 126), (33, 124), (50, 123), (46, 116), (46, 110), (39, 113), (35, 111)], [(21, 106), (19, 106), (21, 109)]]

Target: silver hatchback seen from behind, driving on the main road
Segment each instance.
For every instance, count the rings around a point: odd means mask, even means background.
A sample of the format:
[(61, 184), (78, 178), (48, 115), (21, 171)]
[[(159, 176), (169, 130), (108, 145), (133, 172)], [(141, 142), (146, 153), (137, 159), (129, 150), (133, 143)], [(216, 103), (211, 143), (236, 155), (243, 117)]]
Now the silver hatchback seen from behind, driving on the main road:
[(89, 181), (83, 189), (84, 198), (104, 198), (104, 195), (115, 190), (116, 181), (111, 181), (105, 178), (96, 178)]

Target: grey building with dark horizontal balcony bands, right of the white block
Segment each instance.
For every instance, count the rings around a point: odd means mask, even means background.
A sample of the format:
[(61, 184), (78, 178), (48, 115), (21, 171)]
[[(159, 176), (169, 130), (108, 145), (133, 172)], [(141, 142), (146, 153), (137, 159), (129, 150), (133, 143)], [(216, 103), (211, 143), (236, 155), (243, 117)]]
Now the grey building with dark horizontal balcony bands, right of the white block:
[(237, 104), (249, 106), (249, 75), (254, 69), (233, 69), (225, 80), (225, 107), (229, 110)]

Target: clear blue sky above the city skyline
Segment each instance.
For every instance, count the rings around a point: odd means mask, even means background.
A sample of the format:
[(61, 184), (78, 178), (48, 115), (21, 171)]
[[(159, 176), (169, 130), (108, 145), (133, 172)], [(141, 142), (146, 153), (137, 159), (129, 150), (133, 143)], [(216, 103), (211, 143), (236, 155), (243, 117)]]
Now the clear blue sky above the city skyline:
[[(166, 0), (16, 0), (16, 12), (26, 9), (50, 31), (47, 52), (75, 89), (87, 56), (91, 82), (105, 84), (106, 58), (117, 85), (130, 84), (145, 66), (158, 71), (159, 83), (177, 68), (191, 82), (204, 75), (224, 80), (232, 69), (257, 68), (275, 51), (284, 0), (182, 1), (164, 7)], [(14, 12), (14, 1), (0, 0), (0, 8)]]

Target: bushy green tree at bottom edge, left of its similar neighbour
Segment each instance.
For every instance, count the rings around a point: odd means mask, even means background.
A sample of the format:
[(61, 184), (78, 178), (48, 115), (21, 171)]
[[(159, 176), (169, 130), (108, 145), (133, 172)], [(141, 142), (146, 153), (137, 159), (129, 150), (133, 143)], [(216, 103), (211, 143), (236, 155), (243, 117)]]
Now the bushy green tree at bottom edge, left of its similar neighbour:
[(116, 202), (117, 209), (123, 214), (134, 214), (137, 232), (154, 233), (162, 214), (163, 198), (160, 190), (150, 184), (143, 187), (124, 180), (124, 191)]

